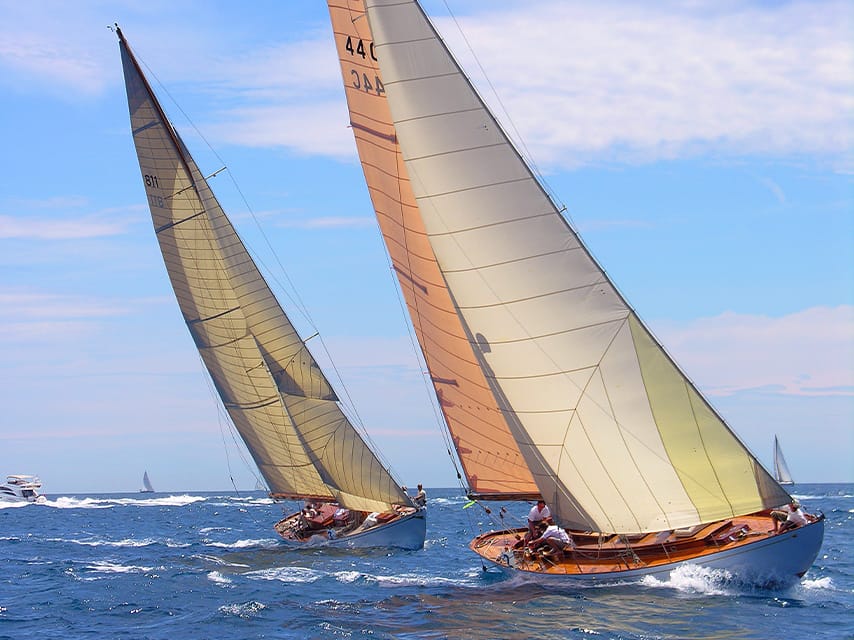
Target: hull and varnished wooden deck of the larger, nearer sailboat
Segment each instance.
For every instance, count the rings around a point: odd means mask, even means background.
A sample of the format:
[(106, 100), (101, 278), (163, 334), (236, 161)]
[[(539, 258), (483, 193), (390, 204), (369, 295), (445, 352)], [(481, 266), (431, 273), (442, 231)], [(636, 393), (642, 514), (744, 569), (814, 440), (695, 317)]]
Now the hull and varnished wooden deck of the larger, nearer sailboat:
[[(507, 544), (516, 535), (524, 534), (524, 529), (485, 533), (472, 540), (470, 547), (502, 571), (552, 583), (620, 582), (644, 576), (665, 578), (679, 567), (696, 565), (726, 572), (725, 578), (743, 583), (784, 585), (807, 572), (824, 537), (823, 516), (782, 533), (773, 532), (767, 514), (716, 524), (718, 531), (713, 533), (698, 532), (684, 540), (669, 536), (660, 544), (633, 545), (634, 553), (626, 553), (625, 546), (620, 553), (616, 546), (578, 545), (562, 560), (549, 555), (526, 556), (524, 552), (502, 555)], [(725, 528), (721, 530), (722, 527)]]

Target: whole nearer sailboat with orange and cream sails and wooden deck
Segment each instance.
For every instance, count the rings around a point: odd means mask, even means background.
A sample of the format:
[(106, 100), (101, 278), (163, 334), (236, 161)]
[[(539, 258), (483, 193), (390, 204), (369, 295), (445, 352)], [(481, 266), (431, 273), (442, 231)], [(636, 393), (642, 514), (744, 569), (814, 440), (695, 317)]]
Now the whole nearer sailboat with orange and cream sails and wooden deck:
[(471, 548), (569, 581), (686, 563), (791, 580), (821, 518), (790, 496), (629, 306), (415, 0), (329, 0), (350, 125), (469, 495), (544, 498), (574, 550), (524, 528)]

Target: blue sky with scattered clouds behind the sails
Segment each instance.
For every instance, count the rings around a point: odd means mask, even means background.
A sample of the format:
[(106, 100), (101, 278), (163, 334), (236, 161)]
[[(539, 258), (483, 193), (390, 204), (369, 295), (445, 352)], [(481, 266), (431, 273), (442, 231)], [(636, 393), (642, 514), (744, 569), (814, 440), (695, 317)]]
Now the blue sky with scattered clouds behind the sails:
[[(854, 9), (425, 2), (640, 317), (748, 448), (854, 482)], [(118, 22), (395, 476), (458, 486), (321, 2), (0, 0), (0, 474), (249, 490), (133, 148)], [(337, 374), (339, 375), (335, 375)], [(339, 377), (340, 376), (340, 377)]]

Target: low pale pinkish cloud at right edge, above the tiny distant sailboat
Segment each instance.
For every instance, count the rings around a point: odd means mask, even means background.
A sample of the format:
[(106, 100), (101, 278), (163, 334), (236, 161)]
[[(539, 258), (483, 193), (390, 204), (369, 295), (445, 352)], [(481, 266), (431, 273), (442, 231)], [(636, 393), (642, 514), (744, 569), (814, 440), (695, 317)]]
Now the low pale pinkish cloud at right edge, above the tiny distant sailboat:
[(656, 333), (710, 396), (768, 389), (854, 397), (854, 306), (813, 307), (779, 318), (724, 313)]

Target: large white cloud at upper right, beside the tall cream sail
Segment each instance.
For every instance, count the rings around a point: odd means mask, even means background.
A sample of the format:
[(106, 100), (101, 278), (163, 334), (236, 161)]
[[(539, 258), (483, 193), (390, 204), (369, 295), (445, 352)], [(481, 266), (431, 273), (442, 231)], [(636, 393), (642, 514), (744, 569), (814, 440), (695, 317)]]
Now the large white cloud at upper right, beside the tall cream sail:
[[(836, 1), (562, 1), (459, 22), (535, 157), (575, 165), (698, 153), (845, 156), (851, 15)], [(440, 28), (465, 50), (452, 23)], [(461, 61), (481, 75), (470, 56)]]

